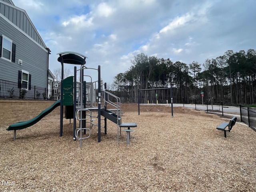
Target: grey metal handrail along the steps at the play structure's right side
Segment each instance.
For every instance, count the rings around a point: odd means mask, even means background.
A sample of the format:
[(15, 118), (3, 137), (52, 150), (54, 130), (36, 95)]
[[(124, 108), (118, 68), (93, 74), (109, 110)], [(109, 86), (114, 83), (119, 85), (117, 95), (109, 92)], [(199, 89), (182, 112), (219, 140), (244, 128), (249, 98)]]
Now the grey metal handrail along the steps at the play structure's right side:
[[(114, 109), (116, 110), (116, 115), (117, 117), (120, 117), (120, 112), (121, 112), (121, 100), (118, 96), (108, 92), (108, 91), (105, 91), (105, 90), (102, 90), (102, 95), (103, 95), (103, 99), (106, 103), (110, 104), (111, 106), (114, 107)], [(119, 141), (119, 125), (121, 124), (119, 118), (117, 118), (117, 140)]]

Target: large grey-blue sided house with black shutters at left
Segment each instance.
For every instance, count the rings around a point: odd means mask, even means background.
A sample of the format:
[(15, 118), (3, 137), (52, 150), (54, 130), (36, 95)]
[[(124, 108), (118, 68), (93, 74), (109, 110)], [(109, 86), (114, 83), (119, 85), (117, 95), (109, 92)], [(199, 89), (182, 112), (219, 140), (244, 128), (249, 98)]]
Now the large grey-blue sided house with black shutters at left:
[(48, 90), (49, 54), (26, 11), (0, 0), (0, 79)]

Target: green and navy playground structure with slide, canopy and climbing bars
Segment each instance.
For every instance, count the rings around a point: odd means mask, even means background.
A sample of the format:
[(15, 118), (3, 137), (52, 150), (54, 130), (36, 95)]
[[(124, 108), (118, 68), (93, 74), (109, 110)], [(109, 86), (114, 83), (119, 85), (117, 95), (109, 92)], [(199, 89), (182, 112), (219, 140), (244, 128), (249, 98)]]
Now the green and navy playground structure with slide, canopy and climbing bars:
[[(98, 142), (101, 141), (101, 116), (104, 117), (104, 134), (107, 134), (107, 119), (117, 125), (117, 140), (121, 135), (121, 128), (128, 128), (127, 144), (130, 143), (130, 127), (136, 127), (136, 123), (122, 123), (120, 98), (106, 90), (102, 89), (100, 79), (100, 65), (98, 68), (88, 68), (86, 64), (86, 56), (76, 52), (61, 52), (58, 53), (58, 61), (62, 66), (61, 74), (61, 89), (60, 100), (56, 101), (52, 106), (44, 110), (36, 118), (25, 122), (18, 122), (10, 125), (6, 130), (14, 130), (14, 140), (16, 139), (16, 130), (24, 129), (33, 124), (36, 124), (40, 119), (49, 114), (54, 108), (60, 106), (60, 136), (63, 134), (63, 109), (65, 106), (65, 118), (73, 118), (73, 140), (79, 140), (82, 146), (82, 140), (90, 137), (92, 126), (98, 126)], [(74, 76), (64, 79), (64, 64), (80, 65), (77, 69), (74, 66)], [(85, 70), (97, 70), (98, 80), (92, 81), (92, 77), (86, 74)], [(80, 80), (77, 81), (77, 74)], [(84, 81), (85, 77), (90, 77), (90, 82)], [(96, 86), (98, 85), (98, 89)], [(111, 106), (112, 109), (107, 109)], [(92, 116), (92, 112), (97, 112), (97, 116)], [(98, 124), (94, 123), (98, 119)], [(79, 121), (79, 126), (76, 125), (76, 120)], [(89, 126), (87, 126), (89, 125)], [(83, 132), (83, 133), (82, 133)], [(86, 134), (87, 132), (87, 134)], [(86, 136), (84, 136), (86, 134)], [(129, 136), (129, 138), (128, 138)]]

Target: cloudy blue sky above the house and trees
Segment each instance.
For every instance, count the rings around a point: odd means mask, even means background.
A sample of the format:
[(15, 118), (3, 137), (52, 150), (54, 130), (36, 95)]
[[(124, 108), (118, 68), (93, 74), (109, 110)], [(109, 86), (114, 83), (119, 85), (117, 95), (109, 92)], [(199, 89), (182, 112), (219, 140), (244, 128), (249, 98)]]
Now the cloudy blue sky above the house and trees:
[(101, 66), (107, 83), (140, 53), (203, 64), (227, 50), (256, 50), (255, 0), (12, 1), (50, 48), (50, 70), (60, 68), (57, 53), (79, 52), (89, 68)]

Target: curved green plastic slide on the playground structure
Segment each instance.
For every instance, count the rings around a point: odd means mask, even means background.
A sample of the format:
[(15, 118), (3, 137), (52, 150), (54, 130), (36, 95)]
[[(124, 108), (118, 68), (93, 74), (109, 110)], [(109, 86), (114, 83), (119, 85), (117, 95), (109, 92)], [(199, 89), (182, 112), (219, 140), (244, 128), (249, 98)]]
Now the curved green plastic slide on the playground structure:
[(24, 128), (30, 127), (30, 126), (36, 124), (38, 121), (40, 121), (44, 116), (46, 116), (50, 112), (52, 112), (58, 106), (60, 106), (60, 100), (57, 100), (56, 102), (54, 102), (54, 104), (52, 104), (52, 106), (50, 106), (47, 109), (43, 110), (35, 118), (30, 119), (28, 121), (22, 121), (22, 122), (14, 123), (14, 124), (10, 125), (6, 130), (8, 130), (8, 131), (20, 130), (20, 129), (24, 129)]

